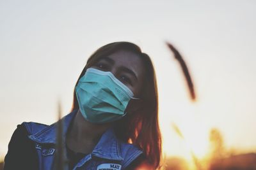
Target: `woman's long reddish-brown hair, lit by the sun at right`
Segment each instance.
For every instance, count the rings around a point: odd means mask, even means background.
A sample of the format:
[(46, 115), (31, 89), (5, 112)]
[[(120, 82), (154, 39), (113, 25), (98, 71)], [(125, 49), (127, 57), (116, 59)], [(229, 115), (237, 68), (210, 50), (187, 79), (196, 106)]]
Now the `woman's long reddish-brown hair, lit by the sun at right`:
[[(141, 93), (140, 108), (133, 114), (127, 114), (115, 124), (115, 133), (118, 139), (127, 143), (132, 143), (141, 150), (147, 157), (147, 161), (154, 167), (159, 167), (161, 161), (161, 132), (158, 123), (158, 96), (157, 96), (157, 83), (154, 66), (150, 57), (141, 52), (139, 46), (133, 43), (121, 41), (109, 43), (100, 47), (88, 59), (79, 79), (84, 75), (86, 69), (92, 67), (99, 59), (108, 56), (111, 53), (119, 50), (128, 50), (141, 57), (143, 60), (146, 77), (143, 85), (143, 92)], [(79, 105), (77, 103), (76, 92), (74, 91), (74, 99), (72, 111), (77, 110)]]

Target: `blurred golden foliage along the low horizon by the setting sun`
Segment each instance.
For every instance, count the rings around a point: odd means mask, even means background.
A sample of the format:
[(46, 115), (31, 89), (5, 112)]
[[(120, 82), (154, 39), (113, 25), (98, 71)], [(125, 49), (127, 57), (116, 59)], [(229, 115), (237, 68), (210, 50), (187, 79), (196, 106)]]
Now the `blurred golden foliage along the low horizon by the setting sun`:
[[(172, 124), (177, 135), (184, 139), (177, 125)], [(239, 154), (236, 148), (225, 148), (223, 135), (219, 129), (213, 128), (209, 132), (209, 155), (203, 160), (197, 159), (193, 153), (195, 169), (200, 170), (255, 170), (256, 153)], [(196, 159), (196, 161), (195, 161)], [(169, 157), (165, 160), (165, 170), (191, 170), (187, 160), (180, 157)]]

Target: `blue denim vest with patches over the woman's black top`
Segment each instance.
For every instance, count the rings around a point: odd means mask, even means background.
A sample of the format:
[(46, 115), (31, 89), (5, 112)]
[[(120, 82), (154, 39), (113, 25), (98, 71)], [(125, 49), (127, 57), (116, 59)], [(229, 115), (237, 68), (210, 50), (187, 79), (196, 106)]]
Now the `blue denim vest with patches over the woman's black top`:
[[(63, 144), (68, 126), (76, 111), (63, 117)], [(57, 124), (43, 125), (34, 122), (24, 122), (29, 133), (29, 139), (35, 142), (40, 170), (54, 169), (54, 155), (56, 153)], [(67, 160), (67, 150), (64, 148), (64, 159)], [(74, 166), (74, 169), (120, 170), (129, 166), (142, 151), (136, 146), (118, 140), (113, 129), (108, 129), (102, 134), (92, 153), (83, 157)], [(64, 169), (68, 169), (66, 165)]]

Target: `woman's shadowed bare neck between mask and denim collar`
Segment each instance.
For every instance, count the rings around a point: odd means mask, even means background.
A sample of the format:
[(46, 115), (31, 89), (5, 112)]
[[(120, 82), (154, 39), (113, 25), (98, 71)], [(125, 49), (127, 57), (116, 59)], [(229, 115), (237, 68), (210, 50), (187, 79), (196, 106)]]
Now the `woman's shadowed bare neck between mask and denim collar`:
[(111, 124), (93, 124), (78, 110), (67, 134), (67, 145), (76, 152), (92, 151)]

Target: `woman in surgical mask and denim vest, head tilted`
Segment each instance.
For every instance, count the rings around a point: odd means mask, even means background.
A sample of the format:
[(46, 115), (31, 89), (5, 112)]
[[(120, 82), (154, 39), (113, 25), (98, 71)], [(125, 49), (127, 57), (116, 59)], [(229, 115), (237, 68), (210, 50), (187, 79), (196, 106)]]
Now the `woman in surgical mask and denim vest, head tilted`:
[[(88, 59), (63, 120), (64, 169), (157, 169), (161, 134), (154, 67), (140, 47), (116, 42)], [(4, 169), (54, 169), (56, 124), (18, 125)], [(54, 162), (55, 160), (55, 162)]]

